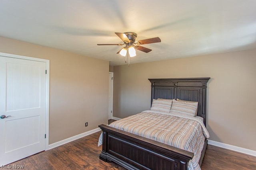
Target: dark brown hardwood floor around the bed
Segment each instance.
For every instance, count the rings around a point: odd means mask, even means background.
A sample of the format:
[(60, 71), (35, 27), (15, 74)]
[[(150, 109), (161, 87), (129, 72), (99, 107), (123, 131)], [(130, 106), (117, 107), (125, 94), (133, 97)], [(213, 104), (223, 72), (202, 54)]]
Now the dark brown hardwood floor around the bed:
[[(124, 170), (114, 163), (99, 159), (101, 132), (88, 135), (60, 147), (34, 154), (11, 164), (28, 170)], [(256, 157), (208, 145), (202, 170), (256, 170)]]

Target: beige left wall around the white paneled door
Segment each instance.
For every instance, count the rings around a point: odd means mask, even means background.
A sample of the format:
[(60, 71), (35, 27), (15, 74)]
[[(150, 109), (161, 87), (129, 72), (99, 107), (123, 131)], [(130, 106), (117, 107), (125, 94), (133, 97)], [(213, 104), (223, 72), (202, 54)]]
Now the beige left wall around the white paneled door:
[(108, 124), (108, 61), (4, 37), (0, 52), (50, 60), (49, 144)]

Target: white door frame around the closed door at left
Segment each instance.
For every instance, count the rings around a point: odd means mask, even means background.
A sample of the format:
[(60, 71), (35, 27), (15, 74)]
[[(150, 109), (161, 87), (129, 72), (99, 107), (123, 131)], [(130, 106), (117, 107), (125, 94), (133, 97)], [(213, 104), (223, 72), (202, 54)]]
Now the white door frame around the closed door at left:
[(27, 56), (22, 56), (22, 55), (15, 55), (15, 54), (9, 54), (9, 53), (0, 53), (0, 56), (2, 57), (10, 57), (10, 58), (15, 58), (15, 59), (24, 59), (24, 60), (31, 60), (31, 61), (39, 61), (43, 62), (46, 64), (46, 93), (45, 93), (45, 134), (46, 134), (46, 139), (45, 139), (45, 147), (44, 150), (49, 149), (49, 97), (50, 97), (50, 60), (46, 59), (38, 59), (34, 57), (27, 57)]

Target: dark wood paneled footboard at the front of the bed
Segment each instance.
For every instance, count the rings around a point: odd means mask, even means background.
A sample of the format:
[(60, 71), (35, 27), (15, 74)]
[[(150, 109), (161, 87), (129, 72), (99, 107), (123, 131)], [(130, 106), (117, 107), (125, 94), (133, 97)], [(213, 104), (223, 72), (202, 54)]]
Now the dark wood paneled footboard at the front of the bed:
[[(103, 131), (100, 159), (127, 169), (186, 170), (194, 153), (178, 149), (107, 125)], [(206, 144), (207, 145), (207, 144)]]

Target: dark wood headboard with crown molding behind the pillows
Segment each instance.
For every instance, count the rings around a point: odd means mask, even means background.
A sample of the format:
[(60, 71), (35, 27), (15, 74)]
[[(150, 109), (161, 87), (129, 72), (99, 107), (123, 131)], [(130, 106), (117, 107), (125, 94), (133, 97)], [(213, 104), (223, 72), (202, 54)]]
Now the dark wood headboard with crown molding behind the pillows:
[(149, 78), (151, 82), (151, 104), (153, 99), (180, 99), (198, 102), (197, 115), (204, 118), (206, 125), (207, 82), (204, 78)]

